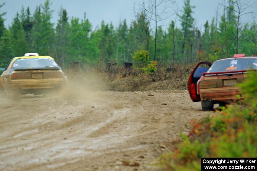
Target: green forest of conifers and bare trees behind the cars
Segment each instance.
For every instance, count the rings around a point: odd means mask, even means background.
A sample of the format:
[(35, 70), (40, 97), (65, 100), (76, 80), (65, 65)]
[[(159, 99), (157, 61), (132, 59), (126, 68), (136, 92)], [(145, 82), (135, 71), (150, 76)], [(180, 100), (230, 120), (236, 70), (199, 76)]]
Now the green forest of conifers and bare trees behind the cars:
[[(198, 61), (215, 61), (245, 53), (257, 56), (256, 4), (228, 0), (217, 4), (223, 13), (206, 21), (204, 29), (197, 28), (193, 18), (194, 6), (184, 0), (182, 10), (170, 0), (148, 0), (133, 8), (131, 23), (126, 19), (115, 28), (102, 21), (93, 28), (86, 13), (74, 18), (60, 7), (56, 24), (51, 22), (51, 1), (36, 7), (22, 7), (9, 28), (4, 25), (6, 12), (0, 4), (0, 66), (5, 67), (13, 57), (35, 52), (51, 56), (64, 69), (72, 61), (84, 68), (104, 66), (106, 62), (133, 62), (137, 50), (149, 52), (149, 60), (174, 67)], [(247, 12), (246, 12), (247, 11)], [(242, 21), (248, 15), (249, 22)], [(169, 18), (175, 18), (171, 20)], [(167, 21), (168, 27), (161, 21)], [(180, 27), (176, 23), (180, 22)]]

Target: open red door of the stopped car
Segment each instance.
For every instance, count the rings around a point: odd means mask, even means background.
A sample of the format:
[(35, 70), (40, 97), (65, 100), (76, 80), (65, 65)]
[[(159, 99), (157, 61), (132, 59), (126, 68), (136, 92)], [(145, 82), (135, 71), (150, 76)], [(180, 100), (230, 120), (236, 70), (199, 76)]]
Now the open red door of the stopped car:
[(201, 101), (200, 95), (197, 94), (197, 81), (200, 79), (204, 72), (207, 72), (211, 67), (211, 63), (208, 61), (199, 62), (187, 81), (187, 89), (190, 94), (190, 98), (193, 102)]

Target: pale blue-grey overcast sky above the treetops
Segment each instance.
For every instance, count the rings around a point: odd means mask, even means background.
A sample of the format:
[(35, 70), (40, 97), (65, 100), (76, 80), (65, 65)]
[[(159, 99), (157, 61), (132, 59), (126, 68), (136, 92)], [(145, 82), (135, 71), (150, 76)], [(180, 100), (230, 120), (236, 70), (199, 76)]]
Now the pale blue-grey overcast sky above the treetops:
[[(45, 0), (0, 0), (0, 4), (5, 2), (6, 4), (0, 9), (0, 13), (7, 12), (4, 16), (5, 26), (11, 25), (13, 18), (16, 15), (16, 12), (21, 10), (22, 5), (26, 9), (28, 6), (31, 10), (31, 13), (34, 13), (34, 10), (37, 5), (43, 4)], [(227, 1), (227, 0), (226, 0)], [(133, 15), (133, 6), (138, 6), (142, 0), (51, 0), (52, 5), (51, 9), (54, 10), (52, 22), (56, 23), (58, 19), (58, 12), (60, 7), (67, 9), (69, 18), (78, 17), (83, 18), (84, 12), (86, 12), (86, 17), (93, 25), (93, 29), (97, 25), (100, 25), (101, 21), (111, 22), (116, 27), (119, 24), (119, 21), (126, 18), (127, 24), (129, 24), (135, 17)], [(183, 0), (176, 0), (179, 9), (182, 9), (184, 4)], [(257, 0), (245, 0), (249, 4), (255, 3), (255, 8), (249, 9), (249, 11), (257, 11)], [(203, 29), (204, 23), (215, 16), (216, 10), (219, 6), (219, 3), (223, 3), (223, 0), (191, 0), (191, 5), (194, 5), (196, 8), (194, 11), (194, 18), (196, 18), (196, 25), (198, 28)], [(222, 14), (223, 8), (219, 6), (219, 13)], [(242, 23), (249, 21), (249, 18), (252, 18), (250, 15), (245, 15), (242, 18)], [(169, 18), (164, 21), (163, 24), (169, 23), (171, 19)], [(180, 26), (178, 22), (177, 26)]]

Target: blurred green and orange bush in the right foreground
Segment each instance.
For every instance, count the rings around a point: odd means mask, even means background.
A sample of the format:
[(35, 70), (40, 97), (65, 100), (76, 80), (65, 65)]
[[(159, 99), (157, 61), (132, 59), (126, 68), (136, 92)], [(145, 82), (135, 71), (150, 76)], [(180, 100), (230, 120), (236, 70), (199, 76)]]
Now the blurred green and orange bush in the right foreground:
[(243, 105), (235, 104), (213, 117), (192, 122), (192, 130), (172, 153), (161, 155), (155, 166), (162, 170), (200, 170), (201, 157), (257, 156), (257, 72), (240, 84)]

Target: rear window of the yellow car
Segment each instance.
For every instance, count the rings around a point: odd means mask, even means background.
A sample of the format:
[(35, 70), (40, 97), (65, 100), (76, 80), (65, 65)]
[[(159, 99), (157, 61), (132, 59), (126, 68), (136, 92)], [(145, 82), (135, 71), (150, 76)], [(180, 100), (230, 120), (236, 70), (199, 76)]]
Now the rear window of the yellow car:
[(59, 67), (56, 62), (48, 58), (24, 58), (17, 59), (11, 66), (11, 69), (18, 68), (47, 68)]

